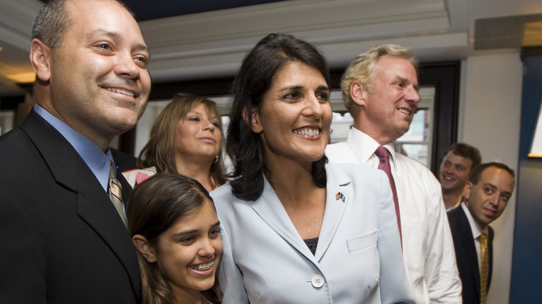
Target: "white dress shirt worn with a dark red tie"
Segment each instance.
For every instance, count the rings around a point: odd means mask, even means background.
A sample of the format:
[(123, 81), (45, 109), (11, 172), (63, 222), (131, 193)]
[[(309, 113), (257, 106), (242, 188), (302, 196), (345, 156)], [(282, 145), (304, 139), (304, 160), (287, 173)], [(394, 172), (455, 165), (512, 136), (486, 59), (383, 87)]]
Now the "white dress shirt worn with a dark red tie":
[[(330, 162), (377, 168), (378, 146), (371, 137), (352, 128), (346, 142), (327, 146), (326, 155)], [(423, 164), (395, 153), (393, 142), (384, 146), (390, 152), (397, 189), (404, 266), (416, 301), (461, 303), (461, 280), (441, 185)]]

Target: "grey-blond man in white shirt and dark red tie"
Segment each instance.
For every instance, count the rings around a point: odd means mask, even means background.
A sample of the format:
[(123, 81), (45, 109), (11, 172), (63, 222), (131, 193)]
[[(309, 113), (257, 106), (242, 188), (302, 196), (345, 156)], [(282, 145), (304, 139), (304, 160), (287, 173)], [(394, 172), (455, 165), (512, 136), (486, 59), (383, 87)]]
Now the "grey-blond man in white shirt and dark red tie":
[(346, 142), (327, 146), (331, 162), (379, 166), (384, 146), (395, 180), (403, 259), (416, 301), (461, 303), (461, 281), (441, 185), (423, 164), (395, 153), (393, 141), (409, 130), (420, 102), (418, 62), (410, 49), (393, 44), (357, 56), (341, 81), (343, 101), (354, 117)]

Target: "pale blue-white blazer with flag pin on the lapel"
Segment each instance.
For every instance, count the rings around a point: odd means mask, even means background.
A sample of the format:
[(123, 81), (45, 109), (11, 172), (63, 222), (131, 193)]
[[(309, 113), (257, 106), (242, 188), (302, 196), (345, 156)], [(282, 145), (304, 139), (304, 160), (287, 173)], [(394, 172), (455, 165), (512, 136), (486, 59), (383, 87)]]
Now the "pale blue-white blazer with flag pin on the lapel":
[(268, 180), (254, 202), (237, 199), (229, 184), (211, 192), (224, 243), (222, 303), (414, 303), (386, 174), (357, 164), (325, 169), (315, 255)]

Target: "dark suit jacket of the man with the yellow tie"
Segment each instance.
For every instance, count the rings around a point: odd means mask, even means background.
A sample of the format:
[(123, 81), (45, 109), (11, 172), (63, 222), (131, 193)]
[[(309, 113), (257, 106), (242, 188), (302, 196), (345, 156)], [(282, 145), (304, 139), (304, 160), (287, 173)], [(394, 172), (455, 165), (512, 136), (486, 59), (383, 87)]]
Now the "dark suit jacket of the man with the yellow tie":
[[(447, 212), (452, 239), (454, 240), (457, 269), (463, 285), (463, 303), (480, 303), (480, 271), (478, 256), (476, 253), (473, 231), (470, 229), (467, 216), (463, 208), (459, 206)], [(491, 273), (493, 271), (493, 228), (489, 228), (488, 251), (489, 269), (487, 289), (491, 285)]]

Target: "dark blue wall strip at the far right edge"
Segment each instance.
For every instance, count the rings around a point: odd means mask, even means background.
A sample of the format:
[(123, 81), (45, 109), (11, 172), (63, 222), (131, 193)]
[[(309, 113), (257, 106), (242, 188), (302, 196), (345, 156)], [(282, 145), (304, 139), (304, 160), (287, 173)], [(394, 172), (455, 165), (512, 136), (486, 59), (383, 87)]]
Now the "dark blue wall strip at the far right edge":
[[(527, 158), (542, 98), (542, 56), (525, 57), (519, 149), (518, 204), (510, 303), (539, 301), (542, 288), (542, 159)], [(536, 299), (536, 300), (534, 300)]]

